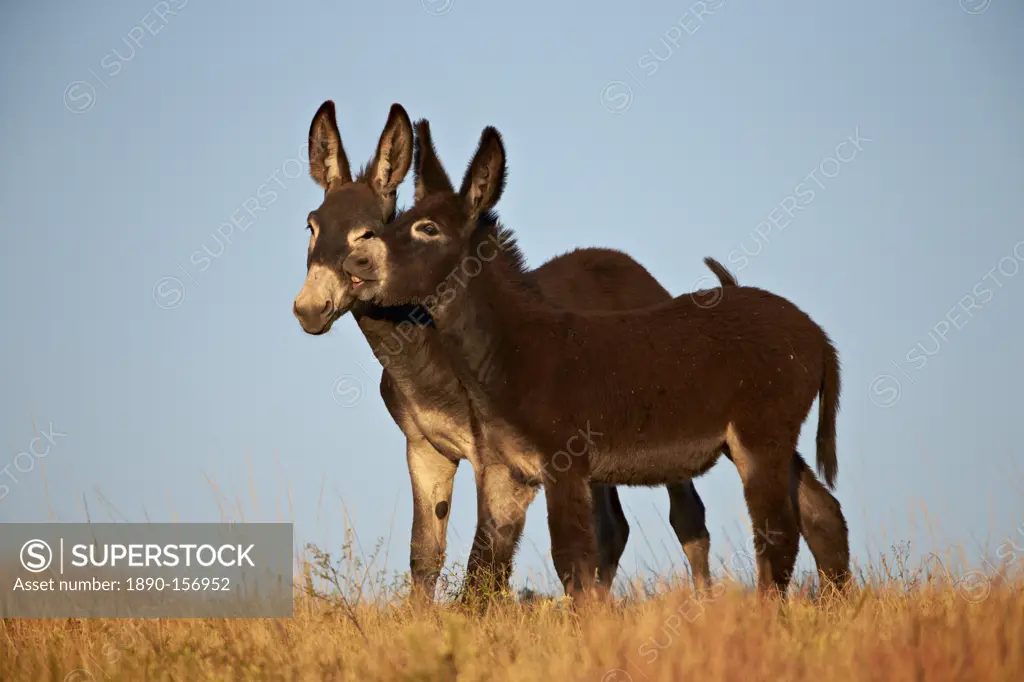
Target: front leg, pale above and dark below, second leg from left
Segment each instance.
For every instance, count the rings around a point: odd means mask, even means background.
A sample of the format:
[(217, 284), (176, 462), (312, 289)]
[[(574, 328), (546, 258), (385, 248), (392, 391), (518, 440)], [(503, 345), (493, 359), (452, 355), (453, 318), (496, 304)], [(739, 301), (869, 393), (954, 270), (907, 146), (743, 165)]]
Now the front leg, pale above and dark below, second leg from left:
[(508, 589), (512, 559), (537, 487), (519, 482), (508, 467), (488, 464), (477, 476), (477, 525), (463, 599)]

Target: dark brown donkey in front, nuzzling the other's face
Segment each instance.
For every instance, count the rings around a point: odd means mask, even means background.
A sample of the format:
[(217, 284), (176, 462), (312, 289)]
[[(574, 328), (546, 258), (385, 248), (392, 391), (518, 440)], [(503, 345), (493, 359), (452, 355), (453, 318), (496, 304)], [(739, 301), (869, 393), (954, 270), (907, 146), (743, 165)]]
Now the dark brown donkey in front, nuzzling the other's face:
[(784, 593), (801, 530), (822, 577), (845, 583), (839, 503), (794, 456), (820, 394), (818, 470), (834, 485), (840, 375), (824, 331), (752, 287), (626, 312), (559, 305), (490, 212), (506, 175), (498, 131), (484, 130), (458, 193), (426, 122), (417, 132), (416, 205), (357, 243), (345, 270), (361, 300), (427, 307), (488, 450), (544, 481), (566, 591), (594, 584), (592, 482), (689, 481), (723, 452), (742, 480), (760, 591)]

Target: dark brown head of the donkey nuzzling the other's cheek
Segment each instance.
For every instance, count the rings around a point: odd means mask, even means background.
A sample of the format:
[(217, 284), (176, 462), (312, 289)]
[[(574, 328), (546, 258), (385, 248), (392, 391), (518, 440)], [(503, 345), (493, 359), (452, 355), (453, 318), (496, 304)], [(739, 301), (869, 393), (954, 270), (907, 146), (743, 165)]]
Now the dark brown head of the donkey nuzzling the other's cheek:
[[(416, 124), (416, 204), (375, 238), (355, 243), (345, 271), (355, 296), (377, 305), (422, 303), (469, 256), (471, 237), (505, 188), (505, 146), (485, 128), (457, 193), (441, 166), (426, 121)], [(492, 249), (494, 252), (494, 248)], [(489, 260), (490, 258), (485, 258)]]

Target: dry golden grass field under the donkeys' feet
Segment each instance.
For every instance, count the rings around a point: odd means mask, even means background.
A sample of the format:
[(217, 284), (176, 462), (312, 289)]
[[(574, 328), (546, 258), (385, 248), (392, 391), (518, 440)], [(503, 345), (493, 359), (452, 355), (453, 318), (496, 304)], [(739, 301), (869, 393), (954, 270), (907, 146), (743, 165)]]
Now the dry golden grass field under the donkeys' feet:
[(953, 577), (882, 557), (847, 596), (797, 586), (784, 604), (746, 581), (702, 599), (637, 584), (574, 612), (509, 595), (415, 604), (318, 556), (290, 620), (7, 619), (0, 680), (1024, 680), (1021, 562)]

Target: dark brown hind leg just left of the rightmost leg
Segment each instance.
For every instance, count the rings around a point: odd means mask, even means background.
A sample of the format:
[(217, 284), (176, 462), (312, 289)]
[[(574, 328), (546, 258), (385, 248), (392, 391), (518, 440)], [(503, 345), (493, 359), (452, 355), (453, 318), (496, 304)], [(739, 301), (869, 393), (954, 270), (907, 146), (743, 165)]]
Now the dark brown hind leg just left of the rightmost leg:
[(800, 526), (791, 495), (796, 438), (785, 443), (744, 442), (730, 425), (726, 442), (743, 483), (743, 498), (754, 526), (758, 592), (784, 596), (797, 563)]

